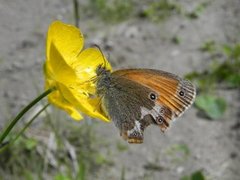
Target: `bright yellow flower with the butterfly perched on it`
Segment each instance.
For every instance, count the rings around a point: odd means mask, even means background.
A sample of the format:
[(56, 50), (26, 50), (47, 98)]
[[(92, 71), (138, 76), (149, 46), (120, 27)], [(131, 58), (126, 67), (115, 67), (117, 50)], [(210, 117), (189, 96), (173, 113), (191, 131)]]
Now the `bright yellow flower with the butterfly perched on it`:
[(80, 112), (83, 112), (109, 121), (99, 107), (99, 97), (93, 96), (96, 86), (92, 78), (96, 77), (98, 65), (106, 64), (109, 70), (111, 66), (98, 48), (82, 50), (83, 45), (84, 38), (78, 28), (60, 21), (50, 25), (44, 66), (45, 88), (56, 90), (49, 94), (48, 100), (75, 120), (82, 119)]

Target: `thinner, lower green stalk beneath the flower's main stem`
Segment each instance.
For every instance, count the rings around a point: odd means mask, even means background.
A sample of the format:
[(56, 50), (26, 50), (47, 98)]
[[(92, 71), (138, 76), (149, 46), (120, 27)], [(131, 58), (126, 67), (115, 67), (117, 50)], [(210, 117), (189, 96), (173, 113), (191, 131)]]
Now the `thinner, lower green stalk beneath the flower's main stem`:
[(13, 144), (23, 133), (24, 131), (32, 124), (32, 122), (49, 106), (49, 104), (46, 104), (42, 109), (40, 109), (28, 122), (27, 124), (24, 126), (24, 128), (22, 128), (22, 130), (16, 135), (16, 137), (11, 140), (9, 143), (7, 143), (6, 145), (3, 145), (3, 147), (0, 147), (0, 153), (2, 153), (8, 146), (10, 146), (11, 144)]

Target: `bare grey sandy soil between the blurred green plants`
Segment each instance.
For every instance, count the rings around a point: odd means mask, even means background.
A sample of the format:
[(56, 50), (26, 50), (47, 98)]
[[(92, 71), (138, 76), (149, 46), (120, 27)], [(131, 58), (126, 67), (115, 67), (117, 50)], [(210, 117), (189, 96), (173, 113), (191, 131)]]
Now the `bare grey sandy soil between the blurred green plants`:
[[(201, 0), (179, 3), (193, 9)], [(210, 63), (199, 47), (207, 40), (234, 43), (240, 36), (240, 1), (212, 0), (196, 20), (173, 16), (161, 23), (130, 19), (115, 25), (84, 19), (80, 27), (88, 35), (86, 46), (97, 43), (110, 54), (115, 69), (155, 68), (184, 75), (201, 71)], [(53, 20), (73, 23), (72, 4), (65, 0), (24, 0), (0, 2), (0, 125), (27, 104), (43, 89), (42, 65), (45, 34)], [(171, 42), (177, 35), (181, 42)], [(219, 90), (229, 104), (225, 115), (217, 121), (198, 116), (189, 109), (165, 134), (156, 127), (145, 132), (142, 145), (128, 145), (124, 152), (115, 151), (121, 141), (113, 124), (98, 123), (99, 136), (113, 144), (114, 166), (102, 169), (98, 179), (120, 179), (125, 167), (126, 179), (179, 179), (184, 174), (203, 169), (209, 179), (238, 180), (239, 92)], [(238, 123), (238, 124), (237, 124)], [(124, 143), (124, 142), (121, 142)], [(190, 156), (183, 162), (172, 162), (167, 149), (187, 144)], [(163, 169), (149, 170), (149, 164)]]

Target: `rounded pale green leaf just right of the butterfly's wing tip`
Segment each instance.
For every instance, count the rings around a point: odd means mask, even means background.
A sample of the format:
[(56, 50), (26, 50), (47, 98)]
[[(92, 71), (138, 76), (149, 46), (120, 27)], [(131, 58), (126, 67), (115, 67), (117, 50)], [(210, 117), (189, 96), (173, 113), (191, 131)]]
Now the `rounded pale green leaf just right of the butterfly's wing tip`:
[(222, 117), (227, 107), (224, 99), (211, 95), (197, 96), (195, 104), (211, 119)]

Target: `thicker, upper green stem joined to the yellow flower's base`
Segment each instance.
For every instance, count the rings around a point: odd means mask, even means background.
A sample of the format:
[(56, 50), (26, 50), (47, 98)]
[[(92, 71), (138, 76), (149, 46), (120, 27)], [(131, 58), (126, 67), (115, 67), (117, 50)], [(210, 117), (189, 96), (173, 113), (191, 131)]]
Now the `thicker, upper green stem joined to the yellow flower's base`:
[(6, 128), (6, 130), (2, 133), (2, 135), (0, 136), (0, 144), (2, 144), (2, 142), (4, 141), (4, 139), (7, 137), (7, 135), (9, 134), (9, 132), (12, 130), (12, 128), (15, 126), (15, 124), (19, 121), (19, 119), (21, 119), (21, 117), (23, 117), (23, 115), (29, 111), (29, 109), (31, 109), (35, 104), (37, 104), (41, 99), (43, 99), (44, 97), (46, 97), (48, 94), (50, 94), (52, 91), (54, 91), (54, 88), (48, 89), (46, 90), (44, 93), (40, 94), (36, 99), (34, 99), (32, 102), (30, 102), (25, 108), (22, 109), (22, 111), (20, 111), (18, 113), (18, 115), (11, 121), (11, 123), (8, 125), (8, 127)]

